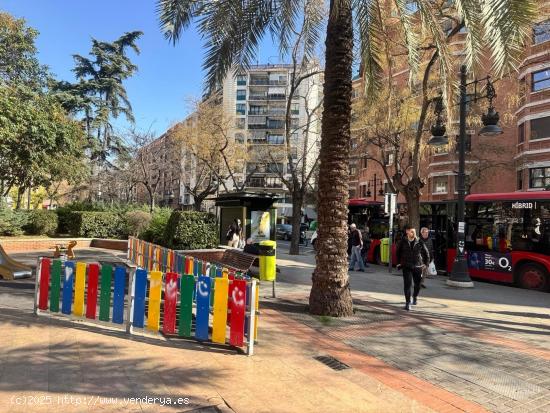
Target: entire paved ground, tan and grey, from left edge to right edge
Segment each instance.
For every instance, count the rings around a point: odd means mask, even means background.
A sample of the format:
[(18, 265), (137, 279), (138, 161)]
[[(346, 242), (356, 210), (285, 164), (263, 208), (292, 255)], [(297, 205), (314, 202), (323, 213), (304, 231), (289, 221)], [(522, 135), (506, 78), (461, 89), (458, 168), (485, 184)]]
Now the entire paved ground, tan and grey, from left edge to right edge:
[(405, 313), (401, 278), (371, 267), (352, 273), (353, 317), (312, 317), (313, 256), (278, 262), (253, 357), (36, 317), (33, 281), (0, 281), (0, 412), (550, 412), (550, 295), (438, 278)]

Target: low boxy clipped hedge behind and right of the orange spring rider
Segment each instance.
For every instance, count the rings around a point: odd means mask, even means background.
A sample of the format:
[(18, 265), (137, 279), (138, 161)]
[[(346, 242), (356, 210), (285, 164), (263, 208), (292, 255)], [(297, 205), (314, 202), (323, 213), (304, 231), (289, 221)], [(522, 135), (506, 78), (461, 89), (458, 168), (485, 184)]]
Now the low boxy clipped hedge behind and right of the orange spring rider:
[(67, 215), (69, 233), (74, 237), (121, 238), (124, 223), (113, 212), (73, 211)]

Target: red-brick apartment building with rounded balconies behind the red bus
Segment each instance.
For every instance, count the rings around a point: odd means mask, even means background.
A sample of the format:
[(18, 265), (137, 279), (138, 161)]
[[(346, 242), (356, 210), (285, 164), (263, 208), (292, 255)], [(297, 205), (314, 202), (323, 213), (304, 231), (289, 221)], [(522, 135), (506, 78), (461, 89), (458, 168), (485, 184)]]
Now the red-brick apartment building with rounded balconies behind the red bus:
[[(466, 142), (467, 187), (471, 193), (539, 191), (550, 188), (550, 4), (542, 8), (534, 22), (532, 37), (525, 47), (516, 73), (495, 83), (495, 107), (501, 113), (504, 131), (496, 137), (478, 136), (479, 125), (468, 126)], [(458, 33), (451, 44), (452, 53), (464, 55), (466, 32)], [(487, 73), (479, 73), (484, 77)], [(472, 75), (473, 76), (473, 75)], [(457, 72), (458, 79), (458, 72)], [(472, 78), (473, 79), (473, 78)], [(405, 87), (408, 72), (397, 72), (396, 84)], [(480, 83), (480, 86), (484, 86)], [(354, 80), (354, 96), (361, 96), (360, 77)], [(510, 99), (510, 97), (517, 99)], [(515, 103), (511, 106), (510, 102)], [(481, 108), (486, 102), (480, 103)], [(504, 115), (504, 116), (503, 116)], [(477, 115), (476, 115), (477, 116)], [(449, 140), (456, 139), (458, 119), (447, 121)], [(426, 125), (429, 128), (429, 124)], [(426, 134), (427, 135), (427, 134)], [(429, 137), (425, 136), (427, 140)], [(389, 185), (379, 164), (368, 160), (359, 148), (360, 137), (352, 139), (350, 160), (350, 198), (383, 201)], [(366, 151), (376, 151), (367, 148)], [(357, 152), (359, 151), (359, 152)], [(392, 154), (383, 159), (387, 165)], [(425, 179), (422, 201), (456, 199), (458, 153), (456, 145), (425, 147), (421, 159), (421, 176)], [(404, 198), (400, 196), (400, 202)]]

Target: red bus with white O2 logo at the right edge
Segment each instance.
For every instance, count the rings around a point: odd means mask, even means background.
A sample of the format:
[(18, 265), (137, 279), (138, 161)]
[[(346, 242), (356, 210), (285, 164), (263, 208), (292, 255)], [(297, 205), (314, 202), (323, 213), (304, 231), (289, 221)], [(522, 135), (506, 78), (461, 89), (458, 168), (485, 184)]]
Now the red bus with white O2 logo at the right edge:
[[(468, 195), (465, 215), (472, 278), (550, 289), (549, 191)], [(456, 255), (454, 243), (452, 237), (447, 271)]]

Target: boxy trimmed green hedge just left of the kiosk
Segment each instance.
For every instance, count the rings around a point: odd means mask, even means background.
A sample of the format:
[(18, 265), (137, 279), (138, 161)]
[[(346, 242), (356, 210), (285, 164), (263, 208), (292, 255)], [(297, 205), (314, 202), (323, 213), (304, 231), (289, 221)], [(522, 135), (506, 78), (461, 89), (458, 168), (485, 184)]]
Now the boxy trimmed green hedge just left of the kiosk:
[(216, 247), (218, 245), (216, 217), (206, 212), (172, 212), (164, 232), (163, 245), (175, 250)]

